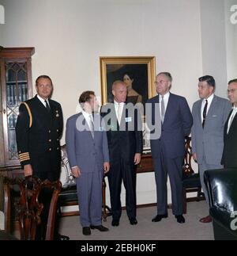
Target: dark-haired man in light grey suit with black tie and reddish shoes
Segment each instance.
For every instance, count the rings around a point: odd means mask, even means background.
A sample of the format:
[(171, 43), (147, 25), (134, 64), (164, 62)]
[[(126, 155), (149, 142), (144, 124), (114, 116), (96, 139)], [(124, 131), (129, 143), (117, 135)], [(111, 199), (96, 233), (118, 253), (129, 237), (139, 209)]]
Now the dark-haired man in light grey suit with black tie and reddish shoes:
[[(192, 128), (192, 153), (198, 161), (201, 187), (207, 201), (204, 172), (210, 169), (220, 169), (221, 156), (224, 147), (224, 124), (228, 119), (231, 105), (227, 99), (214, 94), (215, 79), (210, 75), (199, 78), (198, 94), (201, 99), (193, 105), (194, 125)], [(209, 203), (209, 202), (208, 202)], [(201, 218), (201, 223), (212, 221), (211, 216)]]

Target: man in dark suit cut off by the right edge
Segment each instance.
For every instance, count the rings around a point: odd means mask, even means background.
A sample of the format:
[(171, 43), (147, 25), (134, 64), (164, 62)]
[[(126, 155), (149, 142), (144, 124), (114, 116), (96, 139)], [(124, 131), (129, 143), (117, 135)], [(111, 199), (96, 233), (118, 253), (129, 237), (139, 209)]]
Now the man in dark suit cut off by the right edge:
[(237, 168), (237, 78), (228, 82), (228, 98), (233, 109), (224, 126), (224, 168)]

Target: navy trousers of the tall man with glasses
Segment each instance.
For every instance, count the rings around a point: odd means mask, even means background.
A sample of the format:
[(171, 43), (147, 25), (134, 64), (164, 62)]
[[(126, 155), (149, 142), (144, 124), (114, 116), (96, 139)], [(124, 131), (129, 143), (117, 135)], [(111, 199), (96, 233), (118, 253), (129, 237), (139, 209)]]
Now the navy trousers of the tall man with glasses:
[(170, 159), (164, 150), (153, 159), (156, 178), (157, 214), (167, 213), (167, 174), (171, 182), (172, 212), (182, 212), (182, 157)]

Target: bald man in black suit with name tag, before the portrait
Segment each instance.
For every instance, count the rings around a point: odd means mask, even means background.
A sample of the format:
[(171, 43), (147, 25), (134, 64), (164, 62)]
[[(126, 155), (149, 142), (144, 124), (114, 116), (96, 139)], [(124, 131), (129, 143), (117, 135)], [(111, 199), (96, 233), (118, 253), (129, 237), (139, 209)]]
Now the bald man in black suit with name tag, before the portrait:
[(136, 166), (141, 161), (141, 116), (132, 103), (126, 105), (127, 89), (122, 81), (112, 85), (114, 102), (103, 105), (101, 115), (107, 125), (111, 170), (108, 181), (111, 195), (112, 226), (119, 226), (122, 214), (120, 193), (122, 180), (126, 189), (126, 213), (130, 224), (136, 219)]

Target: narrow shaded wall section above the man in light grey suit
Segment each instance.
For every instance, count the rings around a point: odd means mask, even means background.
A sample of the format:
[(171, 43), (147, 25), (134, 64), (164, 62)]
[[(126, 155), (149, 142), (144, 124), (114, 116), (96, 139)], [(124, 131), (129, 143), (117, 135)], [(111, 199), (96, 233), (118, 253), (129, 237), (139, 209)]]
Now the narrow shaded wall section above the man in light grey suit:
[(216, 79), (216, 94), (226, 97), (227, 50), (223, 0), (201, 0), (202, 67)]

